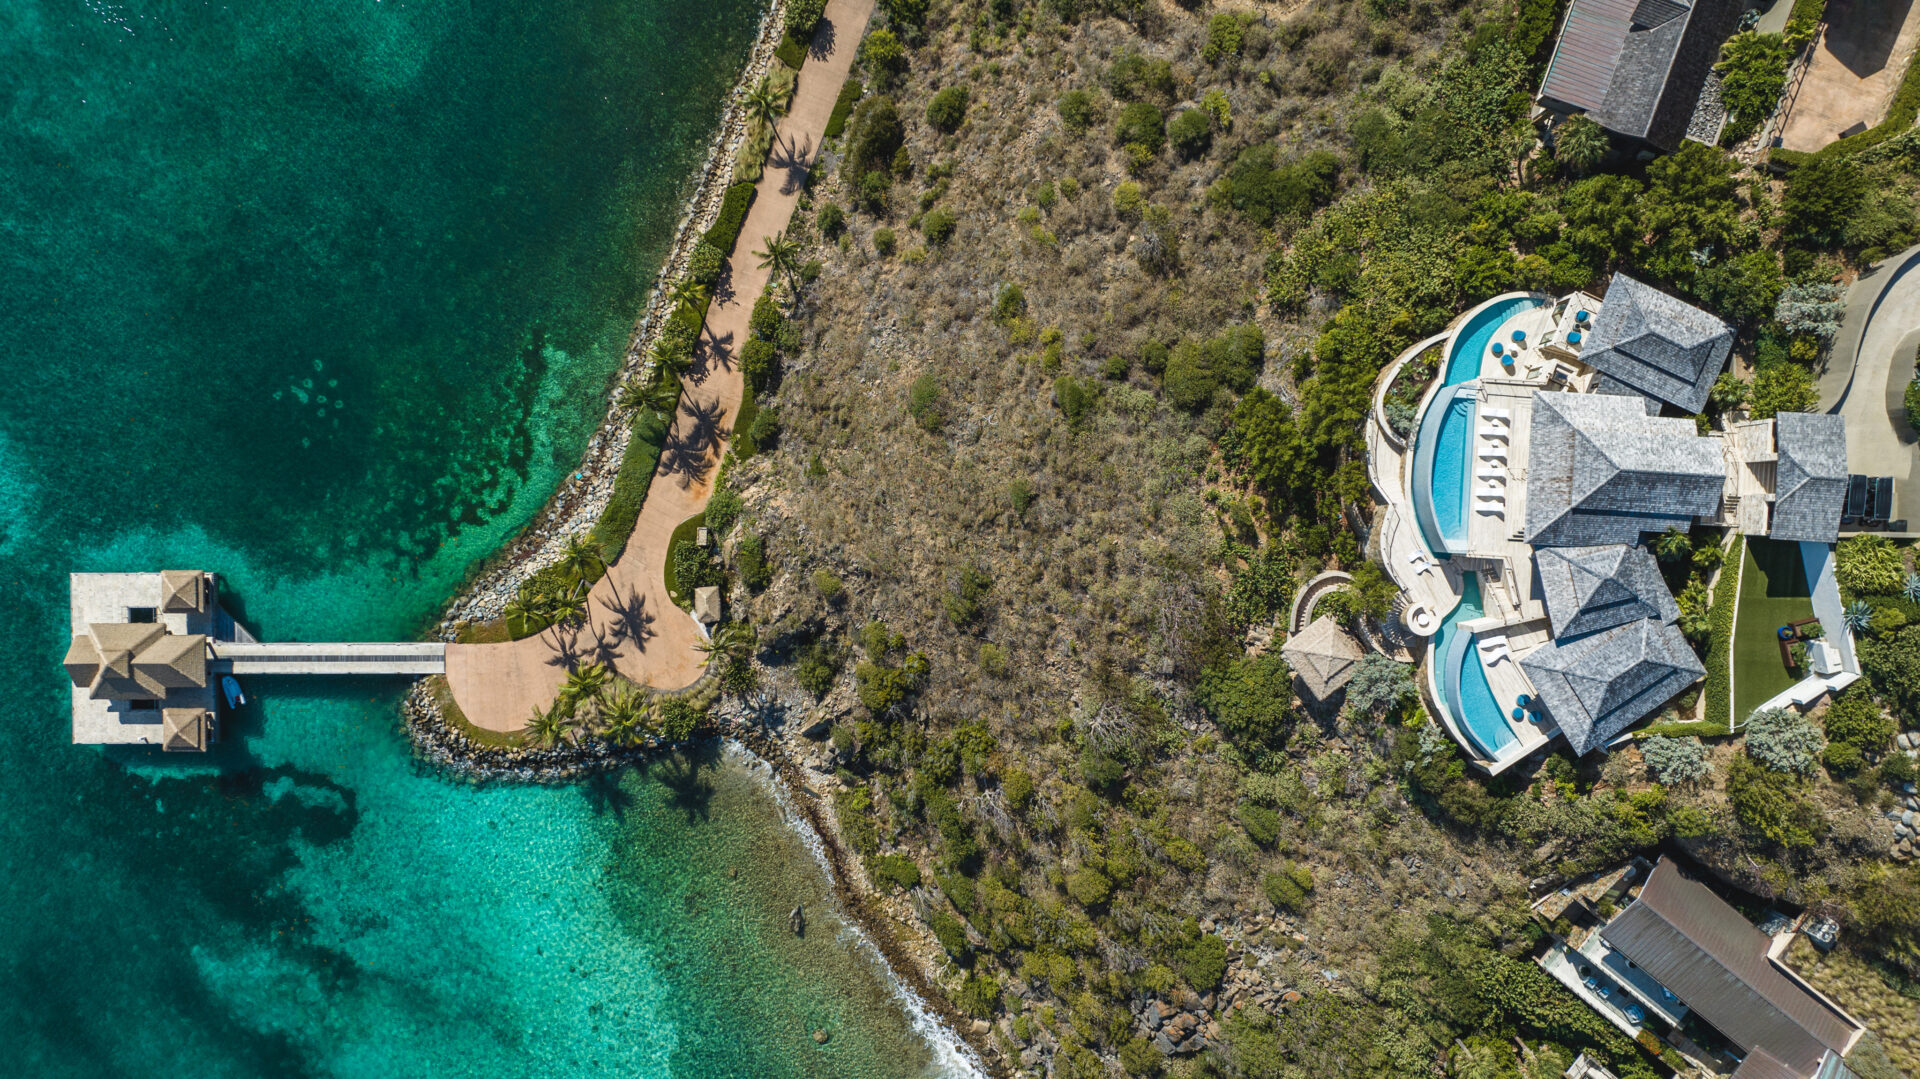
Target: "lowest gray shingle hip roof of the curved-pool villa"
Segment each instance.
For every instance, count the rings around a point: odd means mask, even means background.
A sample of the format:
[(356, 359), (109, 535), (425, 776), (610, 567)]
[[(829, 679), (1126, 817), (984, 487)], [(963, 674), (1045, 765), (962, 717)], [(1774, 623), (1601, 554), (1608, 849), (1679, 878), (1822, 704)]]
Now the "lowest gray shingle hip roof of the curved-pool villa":
[(1576, 756), (1607, 745), (1707, 674), (1680, 628), (1659, 618), (1555, 639), (1526, 653), (1521, 670)]

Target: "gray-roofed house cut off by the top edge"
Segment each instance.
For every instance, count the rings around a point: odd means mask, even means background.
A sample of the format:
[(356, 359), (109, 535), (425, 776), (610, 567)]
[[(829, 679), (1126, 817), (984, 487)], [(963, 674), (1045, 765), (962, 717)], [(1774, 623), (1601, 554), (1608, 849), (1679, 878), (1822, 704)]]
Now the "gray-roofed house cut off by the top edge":
[(1734, 31), (1734, 0), (1572, 0), (1536, 100), (1674, 150)]

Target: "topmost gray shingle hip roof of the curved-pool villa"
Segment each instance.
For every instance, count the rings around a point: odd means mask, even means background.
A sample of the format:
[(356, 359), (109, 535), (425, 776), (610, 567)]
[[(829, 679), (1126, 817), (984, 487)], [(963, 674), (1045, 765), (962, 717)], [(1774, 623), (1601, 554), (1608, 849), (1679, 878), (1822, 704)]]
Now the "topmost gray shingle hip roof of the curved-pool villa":
[(1699, 413), (1730, 351), (1734, 330), (1726, 323), (1617, 273), (1580, 361), (1599, 369), (1609, 390), (1624, 386)]

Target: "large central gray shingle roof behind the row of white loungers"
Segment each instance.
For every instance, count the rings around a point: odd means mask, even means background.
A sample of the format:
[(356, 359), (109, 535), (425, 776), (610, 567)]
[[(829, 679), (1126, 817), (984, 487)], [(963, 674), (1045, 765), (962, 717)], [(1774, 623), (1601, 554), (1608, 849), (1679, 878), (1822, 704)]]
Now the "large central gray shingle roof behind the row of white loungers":
[(1720, 511), (1726, 463), (1693, 420), (1649, 417), (1640, 397), (1536, 392), (1526, 451), (1526, 541), (1634, 543)]

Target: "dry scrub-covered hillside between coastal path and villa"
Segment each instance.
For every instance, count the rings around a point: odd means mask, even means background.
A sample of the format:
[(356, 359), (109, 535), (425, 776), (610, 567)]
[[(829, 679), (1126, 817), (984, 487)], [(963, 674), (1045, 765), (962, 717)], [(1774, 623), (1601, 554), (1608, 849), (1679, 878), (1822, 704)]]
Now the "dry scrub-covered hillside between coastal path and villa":
[(1519, 261), (1538, 207), (1469, 221), (1534, 198), (1505, 42), (1553, 4), (883, 8), (791, 321), (756, 315), (737, 683), (806, 730), (956, 1006), (1029, 1073), (1665, 1073), (1526, 960), (1524, 900), (1690, 795), (1565, 758), (1490, 785), (1405, 668), (1308, 712), (1261, 647), (1363, 564), (1380, 353), (1617, 265)]

